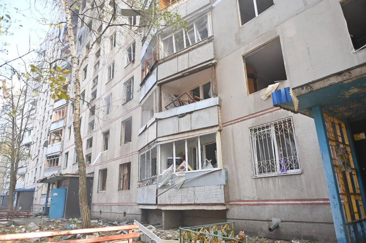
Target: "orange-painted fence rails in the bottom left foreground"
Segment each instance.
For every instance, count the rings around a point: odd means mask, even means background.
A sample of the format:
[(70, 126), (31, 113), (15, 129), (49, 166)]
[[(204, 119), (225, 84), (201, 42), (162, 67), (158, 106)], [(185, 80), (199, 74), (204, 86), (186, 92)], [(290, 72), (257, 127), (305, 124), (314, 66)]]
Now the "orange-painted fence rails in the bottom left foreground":
[(132, 243), (132, 238), (138, 238), (140, 236), (139, 232), (132, 233), (132, 229), (138, 229), (138, 225), (131, 224), (131, 225), (100, 227), (100, 228), (53, 230), (53, 231), (39, 231), (39, 232), (30, 232), (30, 233), (8, 234), (8, 235), (0, 235), (0, 242), (4, 242), (7, 240), (25, 240), (25, 239), (31, 239), (31, 238), (48, 238), (48, 242), (53, 242), (54, 236), (93, 234), (93, 233), (97, 233), (97, 232), (128, 230), (128, 234), (101, 236), (101, 237), (89, 238), (89, 239), (63, 240), (62, 243), (105, 242), (105, 241), (126, 240), (126, 239), (128, 239), (128, 243)]

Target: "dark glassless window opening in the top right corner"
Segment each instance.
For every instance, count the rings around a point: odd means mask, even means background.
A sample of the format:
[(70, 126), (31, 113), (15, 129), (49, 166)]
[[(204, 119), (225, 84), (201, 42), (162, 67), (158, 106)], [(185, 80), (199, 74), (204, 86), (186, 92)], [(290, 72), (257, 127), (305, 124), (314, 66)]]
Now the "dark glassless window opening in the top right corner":
[(360, 50), (366, 47), (366, 1), (348, 0), (341, 3), (348, 32), (353, 48)]

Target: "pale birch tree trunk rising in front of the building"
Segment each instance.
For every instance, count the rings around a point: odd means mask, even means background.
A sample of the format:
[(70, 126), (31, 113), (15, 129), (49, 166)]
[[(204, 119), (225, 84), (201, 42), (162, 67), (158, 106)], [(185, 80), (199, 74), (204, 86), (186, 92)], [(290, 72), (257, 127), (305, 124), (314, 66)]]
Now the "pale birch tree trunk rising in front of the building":
[(75, 47), (75, 39), (74, 39), (74, 31), (72, 29), (72, 16), (70, 9), (67, 5), (67, 0), (61, 0), (62, 4), (65, 8), (66, 13), (66, 23), (67, 30), (69, 35), (69, 44), (70, 44), (70, 54), (71, 54), (71, 62), (72, 68), (74, 69), (75, 81), (74, 81), (74, 138), (75, 138), (75, 150), (76, 156), (78, 157), (78, 167), (79, 167), (79, 207), (81, 214), (81, 226), (82, 228), (90, 228), (90, 211), (89, 205), (87, 201), (87, 192), (86, 192), (86, 166), (84, 161), (83, 154), (83, 141), (81, 139), (81, 131), (80, 131), (80, 80), (79, 80), (79, 66), (78, 66), (78, 58), (76, 57), (76, 47)]

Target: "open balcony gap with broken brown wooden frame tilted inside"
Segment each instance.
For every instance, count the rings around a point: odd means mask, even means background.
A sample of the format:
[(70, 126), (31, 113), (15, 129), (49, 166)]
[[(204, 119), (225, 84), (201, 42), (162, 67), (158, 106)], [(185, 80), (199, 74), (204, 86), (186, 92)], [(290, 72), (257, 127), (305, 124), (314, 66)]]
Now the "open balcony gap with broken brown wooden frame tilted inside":
[(163, 111), (212, 97), (214, 95), (211, 68), (161, 85)]

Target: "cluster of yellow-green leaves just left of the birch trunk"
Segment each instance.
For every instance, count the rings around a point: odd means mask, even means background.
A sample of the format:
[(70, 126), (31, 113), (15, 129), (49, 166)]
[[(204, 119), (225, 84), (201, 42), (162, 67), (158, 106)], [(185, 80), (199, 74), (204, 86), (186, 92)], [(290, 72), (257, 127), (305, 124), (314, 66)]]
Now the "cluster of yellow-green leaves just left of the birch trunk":
[[(69, 74), (71, 70), (63, 69), (62, 67), (56, 66), (56, 69), (46, 69), (43, 70), (36, 65), (31, 64), (31, 73), (34, 76), (34, 81), (42, 82), (47, 84), (51, 90), (51, 97), (55, 99), (70, 99), (70, 95), (68, 94), (68, 82), (67, 78), (69, 78)], [(26, 74), (26, 77), (30, 77), (30, 74)]]

